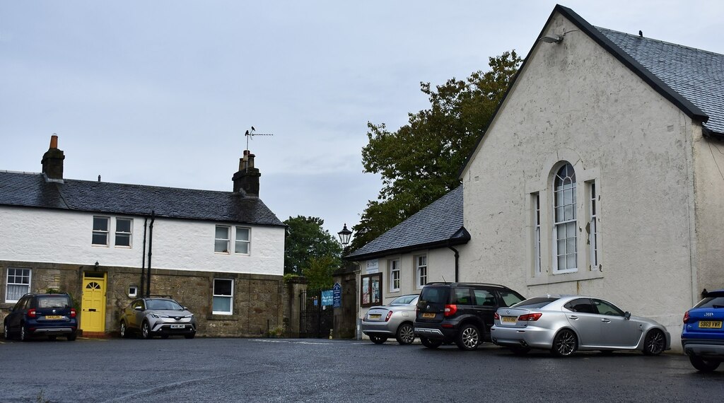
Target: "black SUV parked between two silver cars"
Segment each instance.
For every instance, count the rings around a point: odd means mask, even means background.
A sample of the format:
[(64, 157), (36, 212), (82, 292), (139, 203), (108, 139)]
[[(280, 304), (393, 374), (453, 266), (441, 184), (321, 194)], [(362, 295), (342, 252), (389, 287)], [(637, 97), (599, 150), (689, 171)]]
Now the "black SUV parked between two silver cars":
[(460, 349), (490, 341), (493, 315), (525, 298), (500, 284), (428, 283), (417, 302), (415, 336), (425, 347), (455, 342)]

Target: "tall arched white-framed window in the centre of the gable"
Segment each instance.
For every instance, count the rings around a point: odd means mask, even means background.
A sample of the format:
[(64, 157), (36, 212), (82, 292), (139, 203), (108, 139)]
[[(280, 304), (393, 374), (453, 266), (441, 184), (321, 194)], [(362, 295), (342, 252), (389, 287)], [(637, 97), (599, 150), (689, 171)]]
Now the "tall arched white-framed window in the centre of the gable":
[(553, 272), (577, 271), (576, 172), (564, 164), (553, 178)]

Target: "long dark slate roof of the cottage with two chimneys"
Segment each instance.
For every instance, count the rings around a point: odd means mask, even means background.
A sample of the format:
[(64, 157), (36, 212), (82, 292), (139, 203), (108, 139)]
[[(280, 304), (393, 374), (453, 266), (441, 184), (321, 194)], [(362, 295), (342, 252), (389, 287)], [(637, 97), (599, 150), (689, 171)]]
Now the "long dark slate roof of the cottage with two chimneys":
[(240, 193), (64, 179), (0, 171), (0, 205), (283, 226), (258, 198)]

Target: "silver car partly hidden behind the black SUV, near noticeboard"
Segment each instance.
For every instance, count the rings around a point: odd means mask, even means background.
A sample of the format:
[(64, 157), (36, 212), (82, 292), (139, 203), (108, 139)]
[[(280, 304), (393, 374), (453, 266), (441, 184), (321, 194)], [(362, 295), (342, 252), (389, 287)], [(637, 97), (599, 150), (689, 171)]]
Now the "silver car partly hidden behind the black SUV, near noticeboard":
[(418, 297), (418, 294), (402, 295), (389, 305), (369, 308), (362, 319), (362, 333), (375, 344), (387, 342), (390, 337), (395, 337), (400, 344), (412, 344)]

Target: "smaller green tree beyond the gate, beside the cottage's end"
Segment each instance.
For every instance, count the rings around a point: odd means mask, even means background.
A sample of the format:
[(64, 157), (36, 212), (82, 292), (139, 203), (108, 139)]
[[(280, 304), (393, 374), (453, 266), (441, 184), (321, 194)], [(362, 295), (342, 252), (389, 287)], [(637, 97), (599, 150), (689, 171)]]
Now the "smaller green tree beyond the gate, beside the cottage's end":
[(342, 262), (342, 245), (322, 228), (324, 220), (296, 216), (285, 220), (284, 224), (287, 224), (285, 274), (306, 276), (309, 288), (332, 287), (332, 273)]

